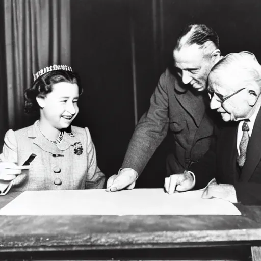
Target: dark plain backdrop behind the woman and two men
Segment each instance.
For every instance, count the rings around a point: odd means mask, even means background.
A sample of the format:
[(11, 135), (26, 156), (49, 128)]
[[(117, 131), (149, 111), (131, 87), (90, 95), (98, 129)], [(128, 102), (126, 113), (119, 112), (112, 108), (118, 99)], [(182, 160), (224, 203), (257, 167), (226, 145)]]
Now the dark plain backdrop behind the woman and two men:
[[(224, 55), (248, 50), (261, 61), (260, 14), (259, 0), (71, 0), (71, 65), (84, 87), (73, 124), (89, 127), (98, 165), (107, 176), (121, 167), (135, 128), (135, 109), (139, 119), (148, 108), (160, 74), (172, 63), (180, 29), (191, 22), (205, 23), (218, 33)], [(3, 40), (0, 43), (3, 60)], [(5, 86), (3, 66), (0, 72)], [(5, 96), (5, 88), (0, 88), (1, 108)], [(0, 126), (1, 140), (6, 131)], [(166, 139), (156, 151), (137, 187), (163, 186), (169, 144)]]

